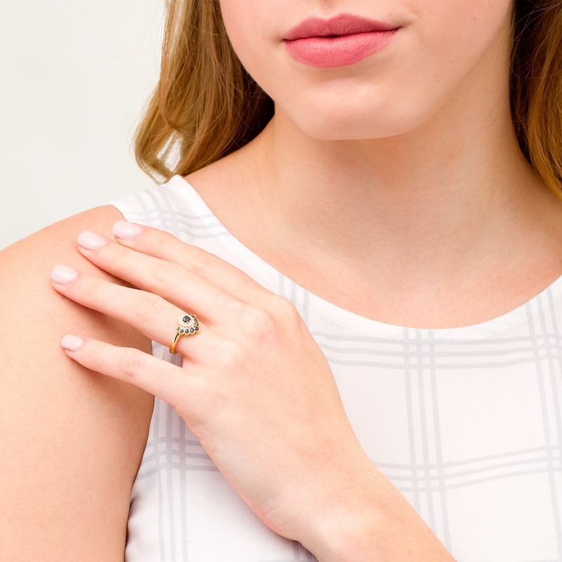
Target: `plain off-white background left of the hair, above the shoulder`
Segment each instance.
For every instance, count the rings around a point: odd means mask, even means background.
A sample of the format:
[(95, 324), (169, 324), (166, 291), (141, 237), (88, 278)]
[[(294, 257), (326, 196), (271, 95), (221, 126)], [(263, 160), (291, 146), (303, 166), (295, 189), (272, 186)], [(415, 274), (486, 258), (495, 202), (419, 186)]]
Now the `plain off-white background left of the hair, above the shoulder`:
[(153, 182), (133, 131), (164, 0), (0, 3), (0, 249)]

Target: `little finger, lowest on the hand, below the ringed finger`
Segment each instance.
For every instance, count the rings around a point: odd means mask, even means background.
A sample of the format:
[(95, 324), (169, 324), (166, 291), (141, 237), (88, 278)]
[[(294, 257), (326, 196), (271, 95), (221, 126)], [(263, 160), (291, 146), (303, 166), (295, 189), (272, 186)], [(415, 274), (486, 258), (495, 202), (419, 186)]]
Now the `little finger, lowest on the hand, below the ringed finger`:
[(196, 377), (169, 362), (143, 353), (135, 348), (122, 348), (103, 341), (67, 335), (61, 341), (65, 353), (91, 371), (125, 381), (162, 398), (172, 407), (182, 397), (182, 407), (189, 408), (190, 385)]

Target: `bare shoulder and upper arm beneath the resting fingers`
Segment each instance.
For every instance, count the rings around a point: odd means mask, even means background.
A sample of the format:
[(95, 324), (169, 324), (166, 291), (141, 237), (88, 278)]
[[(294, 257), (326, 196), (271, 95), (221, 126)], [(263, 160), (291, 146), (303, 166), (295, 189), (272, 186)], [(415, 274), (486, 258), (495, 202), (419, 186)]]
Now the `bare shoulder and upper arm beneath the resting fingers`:
[(122, 218), (99, 207), (0, 252), (0, 559), (122, 561), (131, 485), (152, 396), (89, 372), (60, 348), (86, 334), (150, 351), (133, 329), (68, 301), (53, 266), (97, 270), (77, 235), (111, 236)]

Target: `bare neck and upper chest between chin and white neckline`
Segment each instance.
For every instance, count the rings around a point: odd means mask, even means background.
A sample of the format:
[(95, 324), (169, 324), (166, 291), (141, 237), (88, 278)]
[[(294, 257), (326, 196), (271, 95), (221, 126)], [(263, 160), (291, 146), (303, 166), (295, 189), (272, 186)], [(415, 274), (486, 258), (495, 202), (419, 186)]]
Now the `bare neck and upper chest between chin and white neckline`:
[[(220, 189), (202, 193), (226, 227), (339, 306), (401, 325), (485, 320), (562, 273), (552, 259), (562, 253), (561, 205), (518, 148), (504, 74), (497, 84), (467, 78), (424, 123), (377, 140), (311, 138), (277, 110), (256, 140), (217, 163), (217, 181), (195, 174), (195, 185), (228, 184), (228, 200)], [(348, 281), (329, 287), (334, 271)], [(488, 286), (501, 294), (487, 299)], [(455, 317), (470, 294), (475, 314)]]

